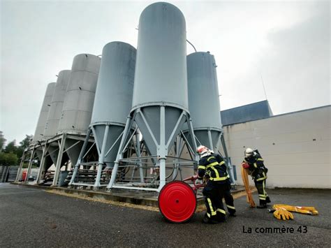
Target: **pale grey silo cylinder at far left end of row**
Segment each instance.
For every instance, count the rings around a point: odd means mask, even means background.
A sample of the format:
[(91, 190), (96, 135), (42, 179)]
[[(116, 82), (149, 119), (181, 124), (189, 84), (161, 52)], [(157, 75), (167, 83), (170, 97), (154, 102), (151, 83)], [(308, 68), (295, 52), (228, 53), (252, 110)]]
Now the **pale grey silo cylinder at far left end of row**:
[(54, 88), (55, 82), (51, 82), (47, 85), (43, 105), (41, 105), (41, 113), (39, 114), (36, 131), (34, 132), (34, 138), (32, 140), (33, 143), (36, 143), (38, 140), (43, 139), (45, 123), (47, 121), (47, 115), (50, 110), (50, 103), (52, 102)]

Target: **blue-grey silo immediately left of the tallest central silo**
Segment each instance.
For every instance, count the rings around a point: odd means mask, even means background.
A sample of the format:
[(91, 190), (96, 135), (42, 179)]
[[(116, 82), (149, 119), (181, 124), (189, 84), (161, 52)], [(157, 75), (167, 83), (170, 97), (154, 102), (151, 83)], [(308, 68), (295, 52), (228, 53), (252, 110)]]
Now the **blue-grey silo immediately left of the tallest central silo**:
[[(100, 175), (105, 163), (112, 168), (119, 149), (119, 137), (132, 105), (136, 50), (123, 42), (104, 46), (96, 86), (96, 96), (90, 128), (98, 144), (98, 175), (94, 187), (100, 187)], [(87, 137), (88, 139), (89, 137)], [(86, 142), (86, 141), (85, 141)], [(78, 170), (78, 164), (75, 170)], [(75, 180), (75, 173), (71, 183)]]

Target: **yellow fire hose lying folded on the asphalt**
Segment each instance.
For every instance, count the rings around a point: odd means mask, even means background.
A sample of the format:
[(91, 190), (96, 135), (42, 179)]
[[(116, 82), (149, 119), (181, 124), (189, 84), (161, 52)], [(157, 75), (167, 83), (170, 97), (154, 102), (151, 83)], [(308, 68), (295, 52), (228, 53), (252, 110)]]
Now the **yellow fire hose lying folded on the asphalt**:
[(301, 214), (317, 215), (318, 211), (315, 207), (300, 207), (285, 204), (275, 204), (272, 206), (274, 209), (274, 217), (277, 219), (293, 219), (291, 212), (300, 212)]

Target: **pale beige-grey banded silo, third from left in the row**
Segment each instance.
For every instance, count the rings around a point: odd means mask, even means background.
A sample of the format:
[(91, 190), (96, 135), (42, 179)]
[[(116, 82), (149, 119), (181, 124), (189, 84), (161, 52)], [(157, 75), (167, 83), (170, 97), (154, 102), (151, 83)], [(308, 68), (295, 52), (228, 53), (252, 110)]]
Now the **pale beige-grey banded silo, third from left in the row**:
[[(99, 57), (92, 54), (78, 54), (74, 57), (57, 134), (86, 135), (91, 122), (100, 61)], [(66, 139), (64, 144), (73, 164), (77, 162), (82, 148), (82, 145), (76, 143), (75, 139)]]

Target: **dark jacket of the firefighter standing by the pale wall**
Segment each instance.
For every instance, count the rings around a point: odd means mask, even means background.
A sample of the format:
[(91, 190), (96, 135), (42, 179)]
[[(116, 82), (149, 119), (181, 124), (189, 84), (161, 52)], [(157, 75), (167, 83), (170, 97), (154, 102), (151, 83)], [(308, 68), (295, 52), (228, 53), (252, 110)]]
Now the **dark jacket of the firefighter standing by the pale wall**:
[(260, 154), (255, 153), (249, 158), (245, 158), (244, 163), (249, 165), (249, 172), (255, 181), (262, 181), (267, 179), (267, 168), (263, 163), (263, 159)]

